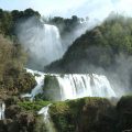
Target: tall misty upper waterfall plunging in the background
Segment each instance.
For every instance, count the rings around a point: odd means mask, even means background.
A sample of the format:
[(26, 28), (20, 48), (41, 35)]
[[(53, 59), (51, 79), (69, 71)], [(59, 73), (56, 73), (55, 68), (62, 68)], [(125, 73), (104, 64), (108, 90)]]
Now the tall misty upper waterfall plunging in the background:
[(18, 37), (30, 54), (29, 66), (43, 70), (44, 66), (61, 58), (65, 50), (57, 26), (38, 22), (40, 25), (34, 21), (22, 23)]

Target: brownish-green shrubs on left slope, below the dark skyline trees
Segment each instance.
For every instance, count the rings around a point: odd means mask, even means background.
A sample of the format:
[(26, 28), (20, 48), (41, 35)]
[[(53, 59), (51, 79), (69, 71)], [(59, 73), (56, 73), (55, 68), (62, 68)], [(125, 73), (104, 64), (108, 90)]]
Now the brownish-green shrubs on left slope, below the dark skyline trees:
[(23, 70), (26, 54), (21, 45), (0, 34), (0, 91), (25, 91), (35, 86), (35, 78)]

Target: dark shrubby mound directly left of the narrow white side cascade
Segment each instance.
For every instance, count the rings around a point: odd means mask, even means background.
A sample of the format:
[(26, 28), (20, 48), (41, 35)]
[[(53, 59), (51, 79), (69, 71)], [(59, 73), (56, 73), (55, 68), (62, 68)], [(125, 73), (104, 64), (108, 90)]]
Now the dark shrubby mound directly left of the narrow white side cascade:
[(0, 82), (0, 95), (18, 96), (22, 92), (31, 91), (36, 85), (35, 77), (22, 70), (18, 76), (6, 76)]

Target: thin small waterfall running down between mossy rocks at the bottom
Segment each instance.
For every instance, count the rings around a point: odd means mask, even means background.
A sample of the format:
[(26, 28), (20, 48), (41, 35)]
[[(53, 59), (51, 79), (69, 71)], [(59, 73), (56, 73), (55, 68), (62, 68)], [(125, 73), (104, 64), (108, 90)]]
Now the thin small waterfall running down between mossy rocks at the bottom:
[(46, 107), (42, 108), (37, 114), (43, 114), (44, 117), (44, 124), (45, 124), (45, 128), (46, 128), (46, 131), (47, 132), (56, 132), (55, 128), (54, 128), (54, 124), (51, 120), (51, 117), (50, 117), (50, 113), (48, 113), (48, 109), (50, 109), (50, 106), (52, 103), (47, 105)]

